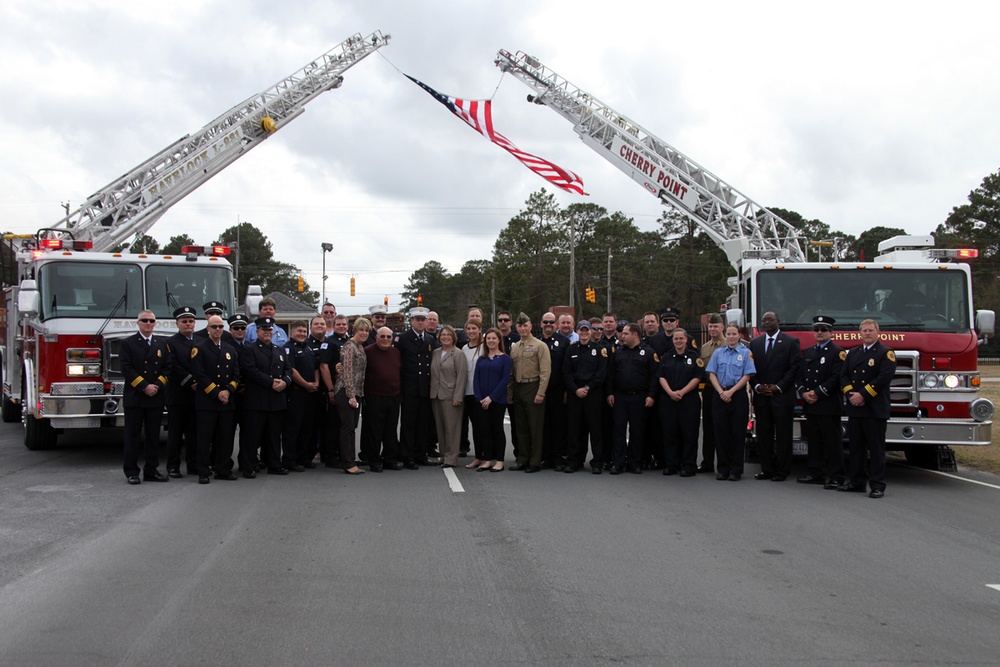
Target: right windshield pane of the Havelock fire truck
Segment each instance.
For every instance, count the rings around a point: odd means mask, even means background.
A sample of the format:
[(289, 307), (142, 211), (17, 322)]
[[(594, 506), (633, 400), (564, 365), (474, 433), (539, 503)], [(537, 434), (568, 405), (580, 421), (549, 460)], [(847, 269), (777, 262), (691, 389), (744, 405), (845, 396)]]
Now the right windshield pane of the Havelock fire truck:
[(146, 298), (158, 318), (169, 318), (180, 306), (199, 314), (208, 301), (221, 301), (225, 314), (233, 310), (233, 281), (229, 265), (154, 264), (146, 267)]

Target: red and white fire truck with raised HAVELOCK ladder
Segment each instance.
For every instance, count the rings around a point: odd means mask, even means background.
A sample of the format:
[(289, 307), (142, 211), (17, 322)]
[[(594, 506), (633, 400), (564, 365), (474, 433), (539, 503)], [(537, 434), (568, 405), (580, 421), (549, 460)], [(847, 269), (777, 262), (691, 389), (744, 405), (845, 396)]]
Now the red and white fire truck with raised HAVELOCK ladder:
[(165, 333), (181, 305), (221, 301), (227, 314), (235, 312), (230, 248), (187, 246), (177, 255), (128, 248), (171, 206), (339, 88), (345, 71), (388, 40), (380, 32), (349, 37), (98, 190), (52, 227), (3, 237), (0, 417), (23, 422), (29, 449), (55, 446), (66, 429), (123, 425), (118, 347), (137, 331), (139, 312), (151, 310)]

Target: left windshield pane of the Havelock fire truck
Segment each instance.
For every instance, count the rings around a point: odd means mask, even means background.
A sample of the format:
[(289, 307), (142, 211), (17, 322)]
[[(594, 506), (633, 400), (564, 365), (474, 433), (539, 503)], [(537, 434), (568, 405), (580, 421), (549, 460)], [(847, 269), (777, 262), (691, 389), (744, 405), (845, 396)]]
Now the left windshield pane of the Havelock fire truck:
[(136, 264), (50, 262), (39, 268), (41, 319), (111, 316), (137, 317), (142, 310), (142, 272)]

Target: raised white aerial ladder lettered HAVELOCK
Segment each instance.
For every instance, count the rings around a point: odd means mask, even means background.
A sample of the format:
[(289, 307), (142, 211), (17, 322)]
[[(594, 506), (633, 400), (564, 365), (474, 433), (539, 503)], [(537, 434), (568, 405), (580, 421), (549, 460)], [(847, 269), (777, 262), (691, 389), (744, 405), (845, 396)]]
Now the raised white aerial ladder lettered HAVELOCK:
[(297, 118), (306, 104), (339, 88), (344, 72), (389, 38), (379, 31), (348, 37), (101, 188), (46, 230), (47, 235), (91, 241), (96, 252), (130, 245), (130, 237), (145, 234), (171, 206)]

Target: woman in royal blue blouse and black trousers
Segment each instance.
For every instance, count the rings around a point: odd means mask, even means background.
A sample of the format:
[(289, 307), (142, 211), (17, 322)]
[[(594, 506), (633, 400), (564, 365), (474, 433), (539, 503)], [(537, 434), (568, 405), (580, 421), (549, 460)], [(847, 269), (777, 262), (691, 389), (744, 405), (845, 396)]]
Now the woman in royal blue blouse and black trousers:
[[(500, 472), (507, 449), (507, 438), (503, 432), (503, 415), (507, 408), (507, 382), (510, 380), (512, 365), (510, 357), (504, 353), (503, 336), (496, 327), (486, 331), (483, 351), (476, 361), (473, 377), (476, 400), (486, 411), (487, 427), (483, 429), (486, 442), (483, 443), (483, 462), (476, 469)], [(493, 465), (494, 461), (496, 465)]]

